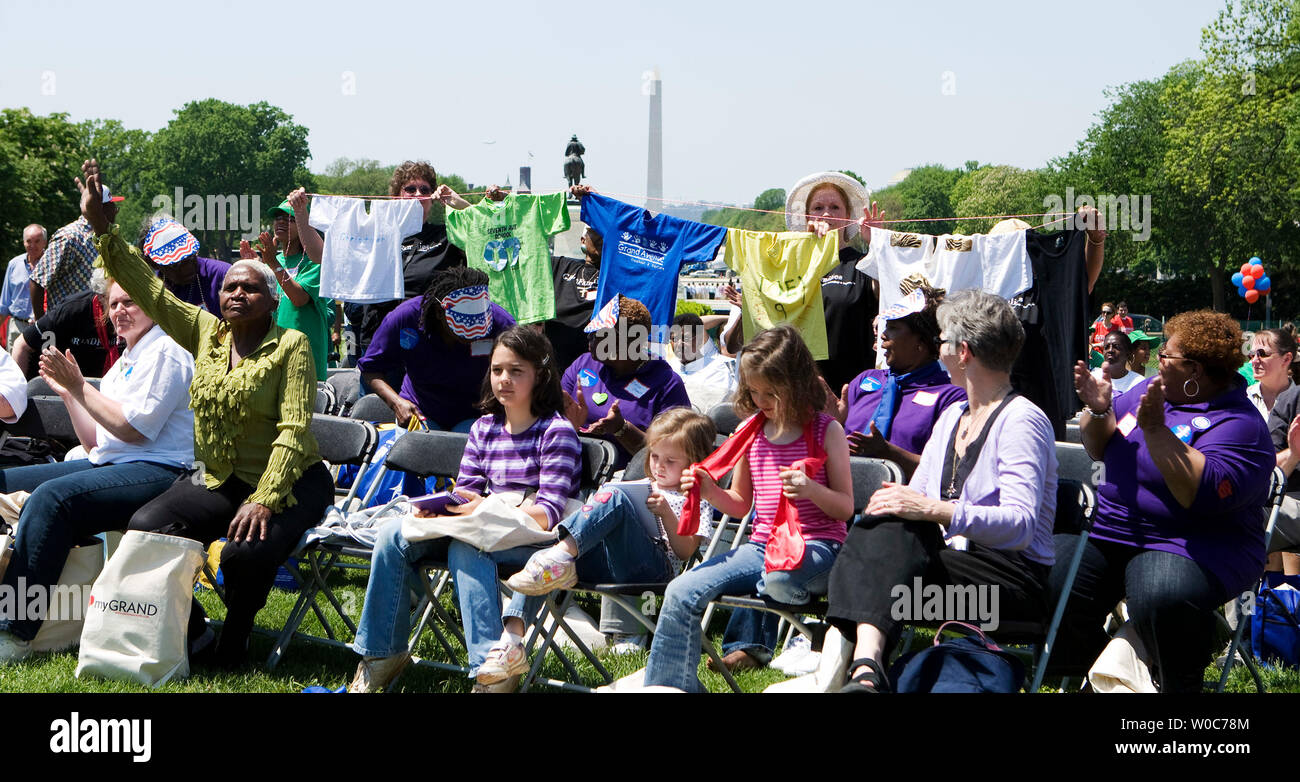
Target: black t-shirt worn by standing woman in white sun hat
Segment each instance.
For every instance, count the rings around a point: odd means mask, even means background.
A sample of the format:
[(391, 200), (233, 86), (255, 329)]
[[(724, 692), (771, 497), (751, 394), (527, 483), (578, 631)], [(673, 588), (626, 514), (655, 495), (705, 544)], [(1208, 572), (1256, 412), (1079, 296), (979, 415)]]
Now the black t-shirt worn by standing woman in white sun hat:
[(863, 370), (876, 365), (871, 321), (880, 310), (880, 303), (871, 292), (871, 278), (857, 268), (863, 255), (853, 247), (841, 247), (840, 264), (822, 278), (826, 343), (831, 357), (816, 364), (836, 394)]

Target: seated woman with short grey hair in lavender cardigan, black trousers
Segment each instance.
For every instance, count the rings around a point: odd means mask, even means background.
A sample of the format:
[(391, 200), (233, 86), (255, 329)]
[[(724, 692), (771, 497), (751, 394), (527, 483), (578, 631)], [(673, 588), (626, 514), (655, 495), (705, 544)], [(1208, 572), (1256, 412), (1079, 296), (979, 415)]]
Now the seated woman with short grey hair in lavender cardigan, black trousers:
[[(941, 360), (967, 401), (939, 417), (907, 486), (885, 482), (871, 495), (831, 570), (827, 620), (844, 640), (823, 661), (852, 644), (844, 691), (888, 690), (881, 664), (904, 622), (974, 617), (996, 630), (1046, 617), (1057, 464), (1050, 421), (1011, 390), (1024, 329), (1004, 299), (975, 290), (945, 301), (939, 323)], [(916, 616), (935, 587), (953, 614)], [(996, 598), (978, 604), (971, 592)], [(819, 670), (819, 683), (840, 673)]]

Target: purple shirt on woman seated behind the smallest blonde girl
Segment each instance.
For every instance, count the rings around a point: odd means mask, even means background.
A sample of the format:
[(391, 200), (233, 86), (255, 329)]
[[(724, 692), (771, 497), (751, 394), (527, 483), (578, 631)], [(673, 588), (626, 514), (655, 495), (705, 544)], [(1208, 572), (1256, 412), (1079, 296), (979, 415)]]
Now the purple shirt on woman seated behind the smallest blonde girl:
[[(586, 403), (588, 426), (599, 421), (610, 412), (610, 405), (619, 403), (619, 414), (645, 431), (659, 413), (672, 408), (689, 408), (690, 397), (686, 386), (667, 361), (651, 359), (627, 377), (615, 377), (604, 364), (592, 353), (582, 353), (564, 370), (560, 381), (564, 391), (577, 397), (576, 388), (581, 386)], [(1258, 413), (1256, 413), (1258, 416)], [(632, 455), (614, 438), (601, 438), (614, 443), (619, 449), (618, 466), (627, 465)], [(618, 468), (615, 468), (618, 469)]]

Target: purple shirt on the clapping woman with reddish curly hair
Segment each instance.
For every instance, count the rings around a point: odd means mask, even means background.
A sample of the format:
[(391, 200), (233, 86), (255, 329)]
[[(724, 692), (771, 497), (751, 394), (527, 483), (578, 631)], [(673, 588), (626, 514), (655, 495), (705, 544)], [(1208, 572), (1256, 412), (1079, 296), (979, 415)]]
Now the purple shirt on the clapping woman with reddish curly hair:
[[(1245, 590), (1264, 572), (1264, 503), (1275, 466), (1269, 429), (1235, 385), (1199, 404), (1165, 401), (1165, 423), (1205, 456), (1191, 508), (1165, 485), (1138, 426), (1141, 382), (1114, 400), (1118, 427), (1102, 456), (1092, 536), (1184, 556), (1214, 575), (1225, 596)], [(1126, 434), (1127, 433), (1127, 434)]]

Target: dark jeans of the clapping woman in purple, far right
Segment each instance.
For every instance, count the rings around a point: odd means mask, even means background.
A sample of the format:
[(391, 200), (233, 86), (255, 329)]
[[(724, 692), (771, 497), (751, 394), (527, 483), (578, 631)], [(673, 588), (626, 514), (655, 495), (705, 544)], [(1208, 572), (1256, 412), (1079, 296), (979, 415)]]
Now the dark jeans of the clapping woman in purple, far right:
[[(1079, 538), (1056, 535), (1054, 542), (1053, 605)], [(1106, 614), (1127, 598), (1128, 617), (1147, 647), (1161, 692), (1200, 692), (1214, 655), (1214, 612), (1230, 596), (1218, 579), (1184, 556), (1088, 540), (1061, 620), (1061, 660), (1053, 655), (1053, 668), (1091, 664), (1109, 640), (1102, 630)]]

